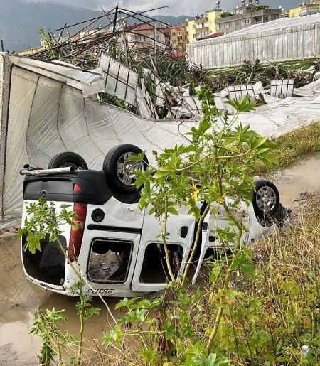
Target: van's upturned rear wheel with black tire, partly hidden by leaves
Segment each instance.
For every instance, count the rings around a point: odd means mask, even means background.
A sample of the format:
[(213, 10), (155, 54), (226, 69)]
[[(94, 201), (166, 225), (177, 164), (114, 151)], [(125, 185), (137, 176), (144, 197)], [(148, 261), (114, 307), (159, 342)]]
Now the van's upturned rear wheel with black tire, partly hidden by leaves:
[[(144, 156), (144, 160), (140, 163), (132, 161), (126, 165), (125, 159), (127, 154), (137, 155), (140, 153), (142, 153), (142, 149), (139, 149), (139, 147), (124, 144), (115, 146), (105, 156), (103, 171), (107, 178), (107, 184), (114, 195), (136, 194), (139, 191), (134, 186), (134, 174), (130, 175), (129, 172), (134, 171), (134, 167), (137, 164), (137, 168), (143, 168), (145, 170), (149, 166), (148, 159)], [(120, 166), (122, 166), (122, 171), (119, 171)]]

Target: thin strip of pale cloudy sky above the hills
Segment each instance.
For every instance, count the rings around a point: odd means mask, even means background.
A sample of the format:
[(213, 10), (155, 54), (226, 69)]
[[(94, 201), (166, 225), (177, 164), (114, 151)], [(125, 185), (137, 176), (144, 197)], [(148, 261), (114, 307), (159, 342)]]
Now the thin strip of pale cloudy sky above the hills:
[[(26, 2), (46, 2), (46, 0), (24, 0)], [(115, 6), (117, 0), (50, 0), (50, 2), (68, 5), (84, 7), (88, 9), (97, 10), (100, 6), (104, 9), (111, 9)], [(194, 16), (206, 10), (213, 9), (215, 7), (215, 1), (210, 0), (123, 0), (120, 2), (120, 6), (124, 9), (133, 11), (153, 9), (158, 6), (168, 5), (169, 9), (161, 9), (156, 11), (156, 14), (161, 15), (189, 15)], [(288, 0), (284, 0), (286, 2)], [(294, 1), (294, 0), (293, 0)], [(264, 4), (273, 4), (279, 6), (281, 0), (267, 0), (263, 1)], [(240, 0), (220, 0), (220, 7), (222, 9), (233, 9), (237, 4), (240, 4)]]

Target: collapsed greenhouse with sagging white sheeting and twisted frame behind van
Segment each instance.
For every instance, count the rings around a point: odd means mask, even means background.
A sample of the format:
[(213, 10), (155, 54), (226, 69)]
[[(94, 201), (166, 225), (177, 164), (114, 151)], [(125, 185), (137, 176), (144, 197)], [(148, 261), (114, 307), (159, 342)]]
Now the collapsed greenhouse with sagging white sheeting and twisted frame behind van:
[[(201, 119), (196, 89), (210, 84), (215, 75), (206, 77), (199, 65), (188, 65), (188, 57), (176, 57), (170, 45), (150, 40), (139, 47), (129, 45), (125, 33), (134, 34), (137, 29), (137, 24), (127, 25), (130, 17), (154, 23), (155, 32), (164, 31), (144, 13), (117, 5), (100, 17), (68, 26), (85, 24), (82, 30), (87, 30), (106, 18), (109, 23), (102, 28), (109, 27), (107, 33), (100, 33), (98, 27), (94, 38), (87, 32), (87, 36), (68, 36), (63, 41), (65, 25), (57, 30), (61, 31), (58, 38), (48, 31), (46, 48), (32, 57), (0, 53), (2, 222), (21, 216), (23, 177), (19, 171), (23, 164), (46, 168), (55, 154), (71, 151), (80, 154), (90, 169), (102, 169), (107, 152), (119, 144), (139, 146), (149, 160), (151, 151), (190, 144), (184, 134)], [(319, 20), (319, 15), (314, 17)], [(319, 30), (318, 23), (314, 31)], [(201, 41), (193, 47), (205, 44)], [(318, 49), (315, 54), (319, 53)], [(277, 70), (276, 80), (269, 77), (260, 82), (257, 73), (253, 80), (250, 70), (250, 77), (240, 72), (235, 82), (216, 82), (218, 115), (227, 111), (228, 118), (233, 118), (235, 111), (228, 101), (248, 95), (257, 107), (254, 112), (241, 112), (238, 121), (250, 124), (262, 136), (279, 136), (309, 124), (320, 114), (319, 63), (310, 70), (306, 70), (307, 77), (299, 72), (299, 82), (286, 70), (282, 74)]]

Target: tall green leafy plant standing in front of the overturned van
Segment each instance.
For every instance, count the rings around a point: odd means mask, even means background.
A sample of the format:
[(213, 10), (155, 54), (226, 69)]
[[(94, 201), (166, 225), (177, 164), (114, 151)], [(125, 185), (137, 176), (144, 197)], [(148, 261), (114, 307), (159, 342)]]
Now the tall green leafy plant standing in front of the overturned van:
[[(143, 306), (136, 300), (133, 300), (134, 306), (127, 301), (120, 303), (127, 306), (127, 315), (105, 336), (106, 345), (114, 340), (119, 347), (127, 335), (139, 334), (142, 360), (147, 364), (218, 365), (230, 362), (214, 352), (216, 339), (220, 338), (225, 326), (221, 325), (223, 314), (238, 296), (237, 291), (230, 289), (230, 281), (234, 274), (252, 277), (255, 270), (250, 251), (243, 247), (243, 234), (247, 229), (242, 222), (241, 203), (252, 200), (254, 185), (249, 172), (255, 163), (260, 161), (267, 166), (276, 163), (270, 154), (276, 147), (272, 141), (259, 136), (250, 126), (235, 125), (240, 112), (254, 108), (247, 97), (240, 102), (229, 102), (237, 111), (233, 119), (218, 113), (210, 87), (201, 88), (198, 98), (203, 102), (203, 119), (188, 133), (191, 144), (155, 154), (157, 167), (137, 172), (136, 185), (142, 187), (139, 208), (149, 210), (149, 214), (159, 220), (159, 245), (164, 249), (170, 280), (167, 291), (173, 298), (164, 298), (160, 302), (156, 318), (148, 318), (145, 300)], [(178, 215), (180, 209), (193, 215), (197, 225), (191, 254), (186, 264), (181, 264), (177, 276), (169, 259), (167, 225), (169, 215)], [(215, 262), (206, 295), (201, 295), (200, 291), (187, 294), (184, 286), (196, 254), (203, 220), (209, 212), (217, 215), (219, 210), (226, 213), (230, 226), (224, 230), (217, 228), (216, 233), (220, 244), (231, 252), (226, 251), (225, 256)], [(213, 289), (216, 289), (215, 295)], [(213, 301), (210, 316), (201, 318), (205, 308), (201, 301)], [(149, 302), (148, 306), (153, 304)], [(148, 325), (143, 336), (142, 331), (132, 333), (132, 319), (135, 320), (135, 330), (143, 329), (145, 323)], [(126, 329), (124, 332), (123, 325), (128, 322), (130, 331)], [(201, 335), (199, 328), (202, 328)], [(154, 352), (155, 348), (158, 352)]]

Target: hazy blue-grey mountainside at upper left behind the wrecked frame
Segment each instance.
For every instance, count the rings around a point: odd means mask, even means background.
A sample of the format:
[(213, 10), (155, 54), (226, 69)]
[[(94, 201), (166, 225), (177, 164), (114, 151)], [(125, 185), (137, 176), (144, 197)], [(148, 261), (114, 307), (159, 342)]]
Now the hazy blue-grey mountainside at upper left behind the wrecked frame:
[[(21, 0), (0, 1), (0, 39), (4, 40), (5, 50), (24, 50), (28, 46), (40, 45), (39, 28), (55, 29), (65, 23), (77, 23), (89, 18), (102, 15), (102, 11), (75, 9), (50, 2), (27, 4)], [(172, 26), (181, 24), (188, 16), (154, 16)], [(189, 17), (190, 18), (190, 17)], [(99, 23), (106, 23), (100, 21)], [(73, 31), (73, 28), (70, 29)]]

